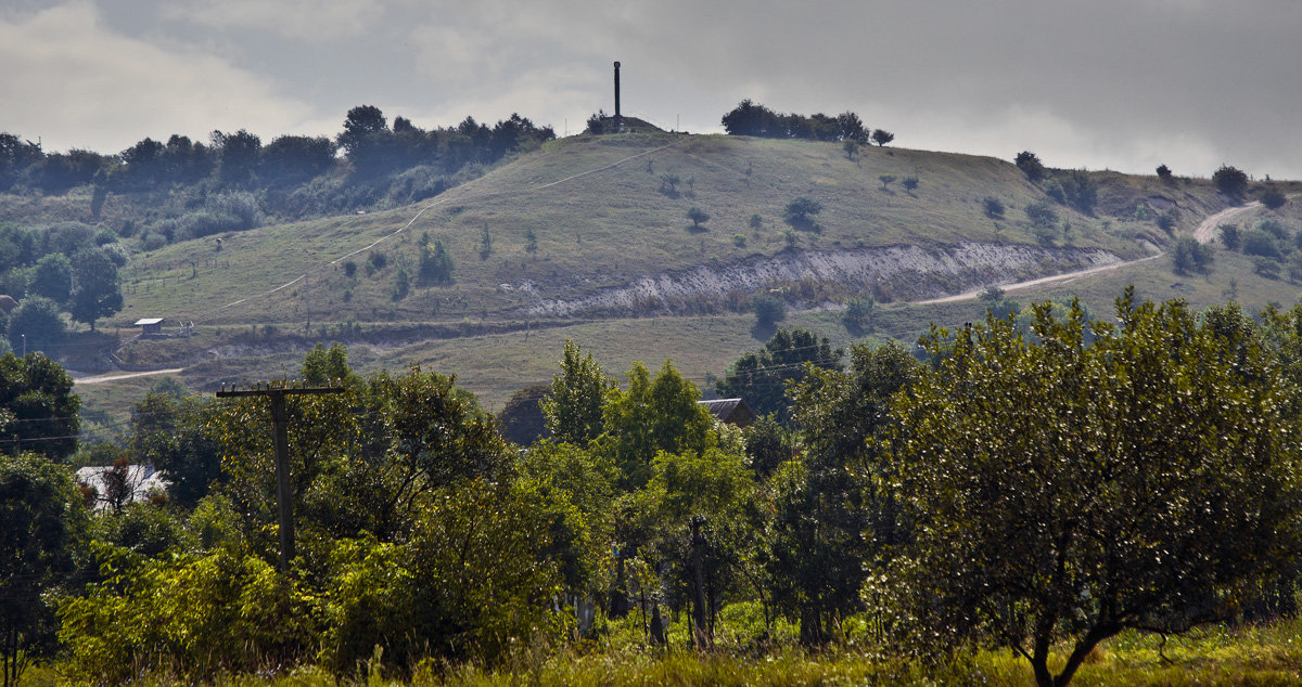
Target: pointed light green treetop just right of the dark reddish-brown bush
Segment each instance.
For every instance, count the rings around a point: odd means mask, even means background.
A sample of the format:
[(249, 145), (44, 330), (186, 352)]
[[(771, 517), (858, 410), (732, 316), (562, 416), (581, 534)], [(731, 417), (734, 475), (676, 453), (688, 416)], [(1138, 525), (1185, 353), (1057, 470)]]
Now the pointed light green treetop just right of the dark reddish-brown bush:
[(615, 388), (592, 354), (579, 357), (579, 346), (565, 340), (561, 373), (552, 377), (552, 393), (542, 399), (547, 431), (556, 441), (586, 446), (603, 428), (602, 405)]

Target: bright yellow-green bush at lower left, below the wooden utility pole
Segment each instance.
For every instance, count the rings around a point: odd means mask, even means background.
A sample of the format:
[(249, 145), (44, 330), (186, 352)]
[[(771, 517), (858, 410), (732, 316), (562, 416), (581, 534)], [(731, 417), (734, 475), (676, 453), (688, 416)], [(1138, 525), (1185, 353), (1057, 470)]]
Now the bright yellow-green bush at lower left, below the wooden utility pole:
[(83, 680), (145, 671), (211, 680), (310, 656), (312, 614), (301, 584), (254, 556), (145, 558), (100, 545), (103, 582), (60, 606), (60, 639)]

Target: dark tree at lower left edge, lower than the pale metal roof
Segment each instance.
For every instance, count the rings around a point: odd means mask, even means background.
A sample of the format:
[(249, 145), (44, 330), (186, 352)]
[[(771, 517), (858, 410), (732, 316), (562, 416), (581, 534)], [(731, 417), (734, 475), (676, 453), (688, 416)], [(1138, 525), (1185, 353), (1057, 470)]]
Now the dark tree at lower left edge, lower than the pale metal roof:
[(0, 669), (4, 686), (57, 648), (57, 592), (76, 570), (86, 522), (68, 468), (34, 453), (0, 455)]

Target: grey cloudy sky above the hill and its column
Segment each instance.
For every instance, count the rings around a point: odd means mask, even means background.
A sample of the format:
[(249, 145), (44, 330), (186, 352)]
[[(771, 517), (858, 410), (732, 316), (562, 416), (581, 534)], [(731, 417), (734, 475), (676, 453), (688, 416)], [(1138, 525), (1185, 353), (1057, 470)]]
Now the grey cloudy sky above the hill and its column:
[(1293, 0), (0, 0), (0, 131), (267, 143), (368, 104), (575, 134), (618, 60), (624, 113), (665, 129), (721, 131), (750, 98), (898, 147), (1302, 180), (1299, 31)]

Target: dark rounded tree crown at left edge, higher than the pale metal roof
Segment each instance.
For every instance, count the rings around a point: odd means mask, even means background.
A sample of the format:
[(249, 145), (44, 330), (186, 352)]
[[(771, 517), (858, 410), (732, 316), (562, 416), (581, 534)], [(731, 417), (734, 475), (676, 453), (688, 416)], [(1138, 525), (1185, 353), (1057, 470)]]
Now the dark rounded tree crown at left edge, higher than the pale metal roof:
[(77, 448), (81, 398), (73, 377), (39, 353), (0, 357), (0, 453), (62, 461)]

